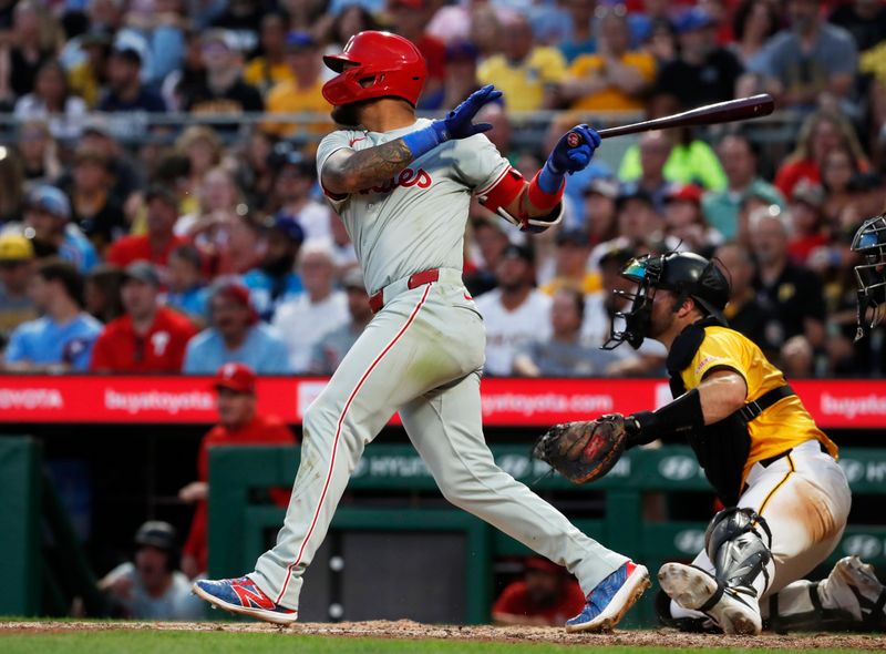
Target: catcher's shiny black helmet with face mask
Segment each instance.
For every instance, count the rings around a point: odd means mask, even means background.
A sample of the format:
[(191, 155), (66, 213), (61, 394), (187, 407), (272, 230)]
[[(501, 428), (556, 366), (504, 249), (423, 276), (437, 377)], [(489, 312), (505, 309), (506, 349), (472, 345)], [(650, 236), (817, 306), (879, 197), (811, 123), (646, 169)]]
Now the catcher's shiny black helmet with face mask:
[[(609, 340), (604, 344), (602, 349), (615, 349), (626, 341), (633, 349), (642, 345), (649, 335), (652, 302), (659, 288), (677, 295), (674, 313), (691, 297), (704, 313), (722, 325), (727, 324), (723, 309), (729, 302), (729, 280), (712, 260), (688, 252), (648, 254), (628, 262), (621, 269), (621, 276), (636, 283), (637, 289), (633, 293), (618, 289), (612, 292), (631, 305), (630, 310), (616, 313)], [(624, 329), (616, 329), (617, 320), (624, 320)]]

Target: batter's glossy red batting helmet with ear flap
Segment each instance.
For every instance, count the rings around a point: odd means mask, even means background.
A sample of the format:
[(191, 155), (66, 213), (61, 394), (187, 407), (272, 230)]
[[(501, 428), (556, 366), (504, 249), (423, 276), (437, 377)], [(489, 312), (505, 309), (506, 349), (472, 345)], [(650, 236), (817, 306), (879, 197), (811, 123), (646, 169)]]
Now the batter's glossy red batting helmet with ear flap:
[[(339, 73), (323, 84), (323, 98), (334, 105), (393, 95), (413, 106), (419, 102), (427, 65), (419, 49), (391, 32), (354, 34), (341, 54), (323, 57)], [(346, 64), (357, 64), (346, 69)]]

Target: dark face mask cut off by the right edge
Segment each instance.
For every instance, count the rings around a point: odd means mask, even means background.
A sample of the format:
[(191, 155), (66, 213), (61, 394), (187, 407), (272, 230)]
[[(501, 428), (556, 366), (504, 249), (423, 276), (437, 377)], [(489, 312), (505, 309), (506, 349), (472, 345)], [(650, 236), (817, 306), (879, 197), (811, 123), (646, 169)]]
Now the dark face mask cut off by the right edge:
[(855, 266), (858, 284), (855, 340), (858, 341), (886, 315), (886, 214), (868, 218), (858, 227), (852, 251), (861, 257)]

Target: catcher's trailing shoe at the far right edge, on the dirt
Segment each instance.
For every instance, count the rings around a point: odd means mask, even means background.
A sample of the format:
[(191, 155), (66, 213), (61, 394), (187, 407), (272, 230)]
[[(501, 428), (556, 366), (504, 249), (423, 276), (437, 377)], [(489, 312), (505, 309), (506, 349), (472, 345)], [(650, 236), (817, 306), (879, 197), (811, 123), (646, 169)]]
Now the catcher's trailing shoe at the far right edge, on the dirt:
[(858, 556), (844, 556), (818, 587), (830, 595), (828, 604), (852, 613), (864, 626), (886, 629), (886, 587), (869, 563), (863, 563)]

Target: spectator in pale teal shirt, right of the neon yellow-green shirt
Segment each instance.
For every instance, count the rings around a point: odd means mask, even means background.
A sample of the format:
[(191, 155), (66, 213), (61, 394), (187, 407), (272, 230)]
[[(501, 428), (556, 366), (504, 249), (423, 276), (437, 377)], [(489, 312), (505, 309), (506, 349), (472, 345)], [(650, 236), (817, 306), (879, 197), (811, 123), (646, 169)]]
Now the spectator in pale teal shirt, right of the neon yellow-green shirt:
[(717, 146), (717, 156), (727, 175), (727, 187), (704, 194), (704, 219), (723, 238), (734, 238), (739, 228), (739, 207), (745, 197), (756, 195), (784, 208), (784, 197), (758, 172), (759, 149), (746, 136), (730, 134)]

